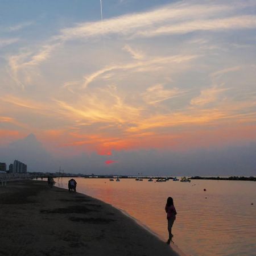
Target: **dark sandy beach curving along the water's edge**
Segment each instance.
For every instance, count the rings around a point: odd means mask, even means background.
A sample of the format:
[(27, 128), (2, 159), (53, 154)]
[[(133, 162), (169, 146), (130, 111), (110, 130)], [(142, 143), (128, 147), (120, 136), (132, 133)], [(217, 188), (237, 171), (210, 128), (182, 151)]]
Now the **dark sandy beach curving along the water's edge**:
[(0, 187), (0, 255), (178, 255), (109, 204), (46, 181)]

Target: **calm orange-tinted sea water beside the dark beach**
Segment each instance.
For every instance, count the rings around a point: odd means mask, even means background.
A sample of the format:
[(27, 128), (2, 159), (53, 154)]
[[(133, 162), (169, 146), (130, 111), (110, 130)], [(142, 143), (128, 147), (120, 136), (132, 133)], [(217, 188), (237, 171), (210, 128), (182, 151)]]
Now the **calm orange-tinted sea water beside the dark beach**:
[[(125, 210), (163, 240), (168, 238), (164, 207), (167, 197), (172, 196), (177, 210), (174, 242), (188, 255), (256, 255), (253, 181), (76, 181), (78, 192)], [(67, 183), (68, 178), (63, 178), (57, 185), (67, 188)]]

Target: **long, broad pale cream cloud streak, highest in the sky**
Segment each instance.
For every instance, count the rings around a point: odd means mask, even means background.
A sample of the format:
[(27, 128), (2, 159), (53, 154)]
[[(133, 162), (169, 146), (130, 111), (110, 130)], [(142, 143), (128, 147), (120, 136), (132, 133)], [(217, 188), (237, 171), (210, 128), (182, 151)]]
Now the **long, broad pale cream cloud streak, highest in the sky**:
[[(95, 36), (119, 34), (125, 36), (154, 37), (167, 34), (185, 34), (198, 30), (228, 30), (255, 28), (254, 15), (233, 14), (241, 6), (218, 3), (177, 3), (152, 11), (128, 14), (101, 22), (80, 23), (65, 28), (57, 38), (74, 40)], [(222, 15), (228, 17), (222, 18)], [(170, 25), (171, 24), (171, 25)]]

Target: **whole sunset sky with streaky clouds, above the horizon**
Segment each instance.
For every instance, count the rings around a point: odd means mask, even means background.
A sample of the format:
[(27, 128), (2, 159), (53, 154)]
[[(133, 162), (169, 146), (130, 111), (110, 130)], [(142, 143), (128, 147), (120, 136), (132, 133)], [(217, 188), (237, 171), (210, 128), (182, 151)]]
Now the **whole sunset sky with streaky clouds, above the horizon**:
[(0, 1), (0, 162), (256, 175), (256, 2)]

